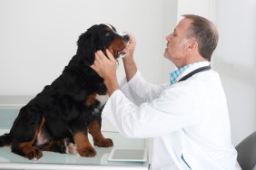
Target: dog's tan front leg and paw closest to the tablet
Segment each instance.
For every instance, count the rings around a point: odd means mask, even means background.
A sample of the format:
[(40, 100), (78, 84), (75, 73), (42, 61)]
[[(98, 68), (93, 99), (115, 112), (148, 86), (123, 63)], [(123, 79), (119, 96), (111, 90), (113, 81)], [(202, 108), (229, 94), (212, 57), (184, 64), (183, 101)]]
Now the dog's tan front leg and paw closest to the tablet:
[(94, 145), (101, 147), (113, 146), (113, 141), (110, 138), (104, 138), (101, 131), (101, 118), (94, 118), (89, 124), (89, 133), (94, 137)]

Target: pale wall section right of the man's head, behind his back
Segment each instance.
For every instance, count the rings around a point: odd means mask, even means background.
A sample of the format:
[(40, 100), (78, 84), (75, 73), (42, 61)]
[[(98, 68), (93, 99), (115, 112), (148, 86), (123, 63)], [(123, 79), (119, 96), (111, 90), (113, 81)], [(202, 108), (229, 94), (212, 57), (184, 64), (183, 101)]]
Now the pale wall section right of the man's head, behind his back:
[(219, 0), (214, 68), (226, 91), (233, 144), (256, 130), (256, 1)]

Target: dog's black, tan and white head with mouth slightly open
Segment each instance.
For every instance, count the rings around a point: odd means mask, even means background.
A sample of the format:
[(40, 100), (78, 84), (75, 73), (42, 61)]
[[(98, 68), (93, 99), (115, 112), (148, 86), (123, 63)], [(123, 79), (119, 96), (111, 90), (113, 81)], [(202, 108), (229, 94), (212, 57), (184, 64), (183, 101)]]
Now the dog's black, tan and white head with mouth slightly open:
[(130, 37), (124, 33), (117, 33), (110, 24), (95, 24), (85, 33), (82, 33), (77, 41), (79, 58), (83, 58), (87, 65), (92, 65), (95, 60), (95, 52), (101, 50), (105, 54), (108, 49), (115, 59), (125, 55), (125, 47)]

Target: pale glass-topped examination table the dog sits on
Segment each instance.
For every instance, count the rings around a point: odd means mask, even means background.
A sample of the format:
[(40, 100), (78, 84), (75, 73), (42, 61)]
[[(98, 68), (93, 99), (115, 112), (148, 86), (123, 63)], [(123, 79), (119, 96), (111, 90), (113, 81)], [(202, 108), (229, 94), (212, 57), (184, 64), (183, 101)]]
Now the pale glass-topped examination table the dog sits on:
[[(0, 109), (0, 135), (8, 132), (17, 113), (18, 109)], [(126, 138), (117, 132), (103, 132), (103, 136), (113, 139), (114, 148), (148, 148), (147, 139)], [(94, 144), (91, 135), (89, 135), (89, 140), (91, 144)], [(44, 156), (39, 160), (29, 160), (12, 153), (10, 147), (0, 147), (0, 169), (148, 169), (148, 162), (108, 161), (113, 147), (94, 146), (97, 152), (94, 157), (44, 151)]]

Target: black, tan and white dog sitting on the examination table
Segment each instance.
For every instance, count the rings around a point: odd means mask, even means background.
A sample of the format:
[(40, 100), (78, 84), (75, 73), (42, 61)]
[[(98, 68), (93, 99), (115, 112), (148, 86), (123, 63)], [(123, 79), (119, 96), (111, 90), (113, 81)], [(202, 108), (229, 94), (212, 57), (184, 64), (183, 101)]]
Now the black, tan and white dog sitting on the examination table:
[[(13, 153), (28, 159), (39, 159), (42, 151), (69, 152), (76, 146), (80, 156), (96, 155), (94, 146), (113, 146), (101, 132), (101, 113), (107, 95), (103, 79), (90, 67), (95, 52), (106, 49), (117, 60), (124, 55), (130, 38), (117, 33), (113, 25), (95, 24), (79, 36), (77, 51), (62, 74), (46, 85), (22, 109), (9, 133), (0, 137), (0, 146), (10, 146)], [(71, 151), (72, 153), (73, 151)]]

